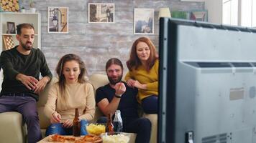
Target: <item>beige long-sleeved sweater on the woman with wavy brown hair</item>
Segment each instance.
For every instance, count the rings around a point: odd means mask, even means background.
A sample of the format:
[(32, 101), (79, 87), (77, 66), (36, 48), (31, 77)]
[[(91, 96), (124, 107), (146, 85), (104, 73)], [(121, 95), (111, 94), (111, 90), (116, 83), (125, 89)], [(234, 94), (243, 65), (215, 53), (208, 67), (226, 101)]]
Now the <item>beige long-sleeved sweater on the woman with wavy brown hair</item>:
[(45, 104), (45, 114), (51, 117), (52, 113), (58, 112), (61, 116), (61, 122), (67, 119), (73, 120), (75, 117), (75, 109), (81, 119), (91, 121), (95, 112), (95, 98), (93, 86), (89, 83), (66, 84), (65, 87), (66, 102), (60, 96), (60, 88), (58, 83), (54, 84), (48, 94), (47, 103)]

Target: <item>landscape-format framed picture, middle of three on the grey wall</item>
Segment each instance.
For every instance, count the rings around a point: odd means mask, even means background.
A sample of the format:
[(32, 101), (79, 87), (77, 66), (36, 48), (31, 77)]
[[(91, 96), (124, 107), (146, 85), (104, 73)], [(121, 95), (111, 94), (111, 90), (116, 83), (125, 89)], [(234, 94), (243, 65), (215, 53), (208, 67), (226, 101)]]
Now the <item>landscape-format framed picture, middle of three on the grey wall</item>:
[(88, 23), (114, 23), (114, 4), (89, 3)]

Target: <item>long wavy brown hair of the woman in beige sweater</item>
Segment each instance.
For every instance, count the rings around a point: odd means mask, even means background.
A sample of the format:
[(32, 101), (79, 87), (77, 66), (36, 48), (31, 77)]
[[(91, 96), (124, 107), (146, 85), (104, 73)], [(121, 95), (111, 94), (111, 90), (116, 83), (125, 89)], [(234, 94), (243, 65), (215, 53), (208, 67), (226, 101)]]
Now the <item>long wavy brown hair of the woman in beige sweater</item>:
[(64, 96), (64, 91), (65, 91), (65, 77), (63, 75), (63, 66), (65, 65), (65, 63), (67, 61), (77, 61), (78, 64), (79, 64), (79, 69), (81, 71), (81, 73), (79, 74), (78, 76), (78, 82), (79, 83), (84, 83), (84, 82), (87, 82), (86, 79), (85, 79), (85, 76), (87, 74), (87, 71), (86, 71), (86, 66), (84, 64), (84, 62), (82, 61), (82, 59), (80, 58), (80, 56), (76, 55), (76, 54), (66, 54), (64, 55), (60, 61), (58, 62), (57, 64), (57, 67), (56, 67), (56, 72), (58, 74), (58, 85), (60, 87), (60, 94), (61, 96), (63, 96), (63, 98), (65, 99), (65, 96)]

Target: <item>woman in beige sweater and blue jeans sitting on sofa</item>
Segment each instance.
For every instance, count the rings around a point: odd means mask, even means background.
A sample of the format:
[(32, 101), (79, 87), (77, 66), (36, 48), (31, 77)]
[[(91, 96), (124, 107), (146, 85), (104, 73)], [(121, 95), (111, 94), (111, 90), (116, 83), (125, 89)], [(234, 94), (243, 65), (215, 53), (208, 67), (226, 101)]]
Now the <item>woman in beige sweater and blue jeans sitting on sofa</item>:
[(46, 136), (73, 134), (76, 108), (81, 119), (81, 135), (85, 135), (86, 124), (95, 112), (93, 86), (86, 82), (85, 64), (76, 54), (66, 54), (58, 62), (56, 71), (59, 81), (51, 87), (45, 104), (45, 114), (51, 122)]

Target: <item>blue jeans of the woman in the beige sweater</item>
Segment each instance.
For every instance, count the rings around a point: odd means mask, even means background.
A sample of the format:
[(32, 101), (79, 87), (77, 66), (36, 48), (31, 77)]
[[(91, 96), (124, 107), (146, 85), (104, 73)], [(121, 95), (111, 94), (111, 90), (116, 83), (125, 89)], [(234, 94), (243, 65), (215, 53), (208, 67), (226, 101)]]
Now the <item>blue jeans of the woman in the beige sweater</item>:
[[(81, 119), (81, 135), (88, 134), (86, 131), (86, 124), (88, 124), (88, 121)], [(45, 136), (50, 134), (72, 135), (73, 127), (65, 128), (63, 127), (62, 123), (50, 124), (50, 126), (46, 129)]]

